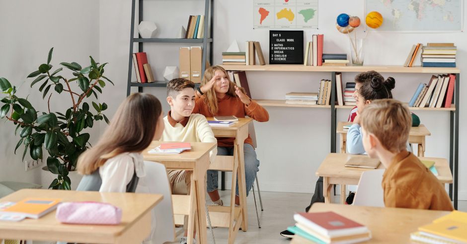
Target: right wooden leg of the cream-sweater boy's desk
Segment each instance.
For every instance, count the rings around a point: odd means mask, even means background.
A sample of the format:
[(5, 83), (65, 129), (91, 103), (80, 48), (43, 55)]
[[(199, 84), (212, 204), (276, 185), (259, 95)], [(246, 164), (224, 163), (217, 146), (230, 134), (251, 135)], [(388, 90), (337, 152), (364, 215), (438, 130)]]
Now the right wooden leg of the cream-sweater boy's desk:
[(196, 169), (193, 174), (196, 174), (196, 198), (198, 207), (198, 243), (207, 243), (206, 229), (206, 180), (205, 175), (209, 167), (209, 154), (205, 154), (196, 162)]

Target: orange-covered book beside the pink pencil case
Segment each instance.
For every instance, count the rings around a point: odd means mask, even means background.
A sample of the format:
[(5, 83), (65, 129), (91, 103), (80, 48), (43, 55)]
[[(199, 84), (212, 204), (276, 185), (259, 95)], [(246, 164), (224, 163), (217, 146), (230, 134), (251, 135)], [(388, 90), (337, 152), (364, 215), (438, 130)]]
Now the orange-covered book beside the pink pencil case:
[(28, 197), (0, 210), (0, 214), (23, 215), (27, 218), (38, 219), (57, 208), (60, 201), (62, 199)]

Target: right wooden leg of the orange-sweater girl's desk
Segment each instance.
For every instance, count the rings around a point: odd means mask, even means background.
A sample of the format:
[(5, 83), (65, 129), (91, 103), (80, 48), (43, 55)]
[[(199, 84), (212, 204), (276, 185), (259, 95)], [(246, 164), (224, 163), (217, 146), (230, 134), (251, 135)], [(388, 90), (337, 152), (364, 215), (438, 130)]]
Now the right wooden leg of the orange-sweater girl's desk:
[[(234, 145), (237, 146), (237, 158), (238, 158), (238, 195), (240, 198), (241, 215), (243, 222), (241, 223), (241, 230), (248, 230), (248, 210), (246, 207), (246, 183), (245, 183), (245, 157), (243, 154), (243, 140), (238, 141), (235, 139)], [(235, 191), (235, 189), (232, 189)]]

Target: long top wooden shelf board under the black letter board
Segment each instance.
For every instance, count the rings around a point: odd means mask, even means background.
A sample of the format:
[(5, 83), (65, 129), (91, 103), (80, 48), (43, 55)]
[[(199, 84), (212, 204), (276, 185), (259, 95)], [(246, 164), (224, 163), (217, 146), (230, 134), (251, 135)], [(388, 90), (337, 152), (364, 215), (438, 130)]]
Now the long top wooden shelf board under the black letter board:
[(244, 71), (313, 71), (313, 72), (364, 72), (375, 70), (390, 73), (461, 73), (459, 68), (444, 67), (403, 67), (396, 65), (364, 66), (305, 66), (302, 64), (266, 64), (266, 65), (221, 65), (226, 70)]

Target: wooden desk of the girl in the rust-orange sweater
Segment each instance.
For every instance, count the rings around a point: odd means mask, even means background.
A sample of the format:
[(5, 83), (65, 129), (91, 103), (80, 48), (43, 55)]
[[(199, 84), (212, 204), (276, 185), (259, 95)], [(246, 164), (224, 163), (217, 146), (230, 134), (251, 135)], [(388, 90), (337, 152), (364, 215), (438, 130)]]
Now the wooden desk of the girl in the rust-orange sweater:
[[(214, 118), (208, 117), (206, 118), (208, 121), (213, 121)], [(241, 222), (241, 230), (242, 231), (247, 231), (248, 228), (248, 211), (247, 211), (247, 204), (246, 204), (246, 184), (245, 184), (245, 159), (244, 159), (244, 154), (243, 154), (243, 144), (246, 138), (248, 138), (248, 124), (252, 122), (253, 119), (251, 118), (238, 118), (238, 121), (235, 122), (231, 126), (226, 126), (226, 127), (215, 127), (212, 126), (212, 130), (214, 132), (214, 135), (216, 137), (234, 137), (235, 140), (233, 142), (233, 159), (232, 156), (218, 156), (216, 159), (216, 162), (211, 163), (211, 170), (223, 170), (223, 171), (229, 171), (228, 169), (234, 169), (237, 168), (237, 178), (238, 178), (238, 195), (240, 197), (240, 213), (242, 217)], [(233, 164), (233, 165), (232, 165)], [(232, 194), (231, 194), (231, 206), (234, 206), (234, 198), (235, 198), (235, 174), (232, 174)], [(226, 207), (224, 207), (226, 208)], [(234, 210), (232, 207), (227, 207), (230, 208), (228, 209), (229, 211), (229, 243), (233, 243), (234, 237), (236, 235), (236, 232), (238, 231), (238, 228), (236, 227), (237, 224), (233, 225), (233, 217), (238, 214), (237, 210)], [(221, 210), (219, 207), (210, 207), (210, 213), (211, 209), (218, 210), (218, 211), (224, 211), (226, 210)], [(225, 219), (225, 218), (224, 218)], [(216, 218), (211, 219), (213, 221), (213, 224), (216, 223)], [(238, 221), (238, 219), (236, 219)], [(226, 221), (221, 221), (223, 223), (226, 223)], [(221, 227), (226, 227), (224, 225), (221, 225)]]

